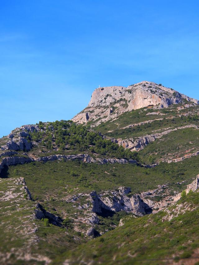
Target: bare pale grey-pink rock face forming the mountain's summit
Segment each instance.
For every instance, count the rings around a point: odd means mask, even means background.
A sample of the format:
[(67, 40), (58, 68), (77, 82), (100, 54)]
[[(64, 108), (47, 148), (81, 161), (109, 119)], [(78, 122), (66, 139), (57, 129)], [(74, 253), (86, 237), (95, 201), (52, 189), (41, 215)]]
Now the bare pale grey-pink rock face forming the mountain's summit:
[(167, 108), (171, 104), (179, 104), (186, 99), (195, 104), (199, 101), (179, 92), (165, 88), (153, 82), (142, 81), (128, 87), (113, 86), (96, 88), (88, 106), (72, 120), (83, 124), (98, 120), (93, 126), (116, 118), (118, 115), (147, 106)]

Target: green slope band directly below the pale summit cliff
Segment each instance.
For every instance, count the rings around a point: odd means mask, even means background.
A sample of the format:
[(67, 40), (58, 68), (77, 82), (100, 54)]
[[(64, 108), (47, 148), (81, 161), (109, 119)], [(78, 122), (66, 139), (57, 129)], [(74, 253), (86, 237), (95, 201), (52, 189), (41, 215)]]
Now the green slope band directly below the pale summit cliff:
[[(125, 112), (118, 117), (116, 120), (110, 120), (105, 123), (101, 123), (94, 129), (106, 136), (113, 137), (113, 138), (132, 138), (132, 137), (139, 137), (142, 135), (153, 133), (155, 130), (164, 129), (168, 127), (176, 128), (178, 126), (187, 125), (190, 123), (194, 123), (198, 125), (197, 121), (190, 122), (186, 119), (181, 119), (178, 115), (184, 115), (188, 112), (192, 113), (192, 115), (197, 114), (199, 111), (198, 106), (189, 107), (182, 110), (177, 110), (177, 106), (171, 105), (168, 109), (146, 109), (142, 108), (139, 110), (133, 110), (131, 112)], [(151, 115), (150, 113), (156, 112), (160, 114)], [(174, 117), (174, 119), (169, 119)], [(137, 124), (147, 120), (155, 120), (161, 119), (162, 121), (154, 121), (150, 124), (143, 124), (140, 126), (135, 126), (132, 128), (123, 129), (130, 124)], [(90, 123), (88, 123), (90, 126)], [(109, 132), (110, 131), (110, 132)]]

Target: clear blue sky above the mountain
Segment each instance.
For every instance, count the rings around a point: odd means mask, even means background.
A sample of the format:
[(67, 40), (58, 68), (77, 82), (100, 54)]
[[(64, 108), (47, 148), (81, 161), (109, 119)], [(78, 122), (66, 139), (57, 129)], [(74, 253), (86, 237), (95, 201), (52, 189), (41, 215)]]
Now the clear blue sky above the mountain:
[(99, 85), (148, 80), (199, 99), (198, 9), (192, 0), (1, 0), (0, 137), (72, 118)]

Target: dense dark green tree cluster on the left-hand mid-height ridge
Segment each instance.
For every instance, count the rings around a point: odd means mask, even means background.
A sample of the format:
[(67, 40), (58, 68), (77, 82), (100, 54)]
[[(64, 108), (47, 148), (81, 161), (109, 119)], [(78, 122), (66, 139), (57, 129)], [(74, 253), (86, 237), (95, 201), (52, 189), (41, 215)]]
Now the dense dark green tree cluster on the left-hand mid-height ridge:
[[(44, 128), (44, 124), (40, 124)], [(46, 125), (43, 131), (34, 131), (30, 134), (31, 140), (40, 142), (47, 149), (58, 146), (60, 150), (76, 149), (90, 150), (100, 155), (112, 155), (116, 158), (136, 159), (139, 161), (137, 152), (124, 149), (123, 146), (103, 139), (97, 132), (90, 132), (83, 125), (77, 125), (72, 121), (55, 121)]]

